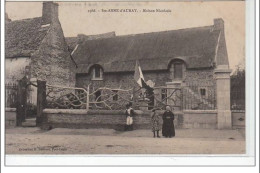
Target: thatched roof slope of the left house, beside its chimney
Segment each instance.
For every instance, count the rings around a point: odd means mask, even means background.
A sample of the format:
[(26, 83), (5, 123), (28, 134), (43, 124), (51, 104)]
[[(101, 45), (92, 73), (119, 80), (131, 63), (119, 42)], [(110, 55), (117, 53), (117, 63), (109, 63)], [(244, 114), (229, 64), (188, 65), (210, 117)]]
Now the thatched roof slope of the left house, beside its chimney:
[(48, 29), (48, 25), (42, 27), (41, 17), (6, 23), (6, 58), (31, 56), (38, 49)]

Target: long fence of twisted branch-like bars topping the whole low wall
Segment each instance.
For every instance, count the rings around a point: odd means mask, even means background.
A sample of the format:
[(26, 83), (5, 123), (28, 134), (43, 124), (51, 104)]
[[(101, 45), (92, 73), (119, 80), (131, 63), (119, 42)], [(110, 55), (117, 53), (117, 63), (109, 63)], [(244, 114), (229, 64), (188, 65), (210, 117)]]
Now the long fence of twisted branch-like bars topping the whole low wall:
[[(91, 89), (90, 89), (91, 88)], [(213, 84), (194, 83), (180, 87), (142, 88), (74, 88), (47, 85), (47, 108), (124, 110), (132, 103), (135, 109), (151, 110), (214, 110), (216, 109), (215, 87)]]

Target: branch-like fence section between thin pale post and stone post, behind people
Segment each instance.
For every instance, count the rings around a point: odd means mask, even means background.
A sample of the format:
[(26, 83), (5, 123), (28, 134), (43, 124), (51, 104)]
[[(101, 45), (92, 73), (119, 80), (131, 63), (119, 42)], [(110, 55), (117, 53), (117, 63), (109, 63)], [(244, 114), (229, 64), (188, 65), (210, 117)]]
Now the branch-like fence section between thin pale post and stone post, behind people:
[(128, 103), (141, 110), (165, 109), (167, 105), (181, 109), (182, 91), (180, 88), (166, 87), (150, 90), (101, 87), (90, 92), (89, 100), (90, 109), (124, 110)]

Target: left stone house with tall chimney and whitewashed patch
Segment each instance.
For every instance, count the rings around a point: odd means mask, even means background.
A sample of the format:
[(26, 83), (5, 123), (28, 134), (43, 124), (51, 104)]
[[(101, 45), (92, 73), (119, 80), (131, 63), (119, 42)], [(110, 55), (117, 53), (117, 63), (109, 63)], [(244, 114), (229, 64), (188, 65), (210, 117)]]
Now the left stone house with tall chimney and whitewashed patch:
[(75, 62), (70, 56), (58, 18), (58, 4), (43, 2), (42, 16), (5, 25), (6, 82), (27, 75), (31, 81), (75, 86)]

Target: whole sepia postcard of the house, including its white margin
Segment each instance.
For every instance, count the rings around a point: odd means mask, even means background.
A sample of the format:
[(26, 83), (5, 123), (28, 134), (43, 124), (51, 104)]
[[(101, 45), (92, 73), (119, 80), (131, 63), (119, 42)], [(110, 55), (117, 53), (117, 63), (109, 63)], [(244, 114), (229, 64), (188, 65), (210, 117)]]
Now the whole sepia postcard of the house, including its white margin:
[(246, 12), (245, 1), (5, 2), (6, 165), (254, 165)]

